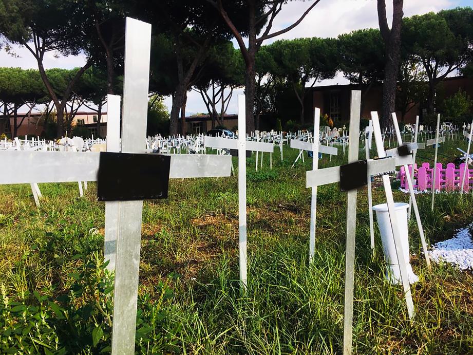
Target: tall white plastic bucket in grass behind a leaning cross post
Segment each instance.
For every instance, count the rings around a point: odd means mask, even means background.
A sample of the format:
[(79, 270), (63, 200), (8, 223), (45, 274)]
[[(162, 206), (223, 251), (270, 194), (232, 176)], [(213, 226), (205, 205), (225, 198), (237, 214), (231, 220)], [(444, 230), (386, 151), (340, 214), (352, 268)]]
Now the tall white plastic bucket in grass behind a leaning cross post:
[[(409, 283), (413, 284), (419, 281), (419, 277), (414, 274), (409, 263), (409, 233), (407, 229), (407, 209), (408, 203), (395, 202), (394, 208), (398, 222), (398, 229), (401, 235), (402, 250), (404, 253), (404, 262), (406, 263)], [(394, 246), (394, 238), (392, 236), (391, 221), (389, 219), (387, 203), (377, 204), (373, 206), (376, 211), (376, 219), (381, 233), (381, 241), (383, 243), (384, 259), (386, 260), (387, 270), (386, 278), (391, 284), (401, 283), (401, 272), (399, 270), (398, 256), (396, 247)]]

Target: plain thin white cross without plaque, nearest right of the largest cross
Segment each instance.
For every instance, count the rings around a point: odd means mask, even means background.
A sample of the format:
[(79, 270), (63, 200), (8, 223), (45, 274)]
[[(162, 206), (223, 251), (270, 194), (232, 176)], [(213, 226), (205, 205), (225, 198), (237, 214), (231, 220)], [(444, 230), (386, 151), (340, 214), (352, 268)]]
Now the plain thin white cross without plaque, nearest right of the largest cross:
[(204, 147), (238, 149), (238, 255), (240, 284), (247, 288), (247, 151), (273, 153), (274, 144), (247, 141), (244, 95), (238, 95), (238, 140), (205, 136)]

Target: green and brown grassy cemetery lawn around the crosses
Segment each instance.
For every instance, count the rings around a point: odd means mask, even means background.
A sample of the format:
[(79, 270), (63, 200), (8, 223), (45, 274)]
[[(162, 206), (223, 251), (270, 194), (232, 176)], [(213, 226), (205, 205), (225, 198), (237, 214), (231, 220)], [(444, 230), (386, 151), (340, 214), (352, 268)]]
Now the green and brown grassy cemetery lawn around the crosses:
[[(374, 146), (374, 144), (373, 144)], [(439, 161), (466, 150), (439, 148)], [(308, 265), (311, 159), (278, 148), (269, 170), (248, 159), (248, 292), (238, 283), (237, 178), (172, 180), (167, 200), (143, 210), (137, 353), (341, 353), (346, 195), (335, 184), (317, 196), (316, 254)], [(346, 152), (348, 153), (348, 151)], [(371, 152), (372, 154), (374, 151)], [(346, 154), (347, 156), (347, 154)], [(346, 162), (342, 148), (332, 161)], [(418, 163), (433, 149), (418, 152)], [(364, 151), (360, 151), (364, 158)], [(433, 163), (429, 161), (430, 163)], [(234, 166), (237, 167), (236, 160)], [(8, 168), (5, 167), (4, 168)], [(373, 203), (384, 202), (375, 183)], [(395, 201), (408, 201), (397, 191)], [(99, 353), (110, 350), (112, 275), (104, 270), (104, 203), (95, 184), (0, 186), (0, 352)], [(450, 238), (473, 217), (471, 195), (417, 195), (429, 244)], [(358, 194), (354, 353), (471, 353), (473, 276), (448, 265), (428, 270), (415, 218), (409, 223), (416, 310), (409, 322), (401, 286), (384, 280), (381, 240), (370, 254), (366, 188)]]

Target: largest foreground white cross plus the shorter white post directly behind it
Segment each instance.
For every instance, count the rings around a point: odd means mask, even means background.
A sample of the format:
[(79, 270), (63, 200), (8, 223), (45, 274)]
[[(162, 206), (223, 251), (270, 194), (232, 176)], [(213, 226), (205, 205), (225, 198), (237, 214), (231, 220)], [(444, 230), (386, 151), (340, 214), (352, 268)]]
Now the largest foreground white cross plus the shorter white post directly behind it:
[[(120, 101), (109, 97), (109, 151), (145, 153), (150, 38), (149, 24), (126, 18), (121, 147)], [(96, 181), (100, 162), (94, 152), (7, 151), (0, 157), (9, 166), (0, 184)], [(180, 154), (171, 156), (169, 178), (230, 176), (230, 171), (230, 156)], [(135, 352), (142, 209), (141, 200), (106, 202), (106, 257), (113, 259), (116, 250), (113, 354)]]

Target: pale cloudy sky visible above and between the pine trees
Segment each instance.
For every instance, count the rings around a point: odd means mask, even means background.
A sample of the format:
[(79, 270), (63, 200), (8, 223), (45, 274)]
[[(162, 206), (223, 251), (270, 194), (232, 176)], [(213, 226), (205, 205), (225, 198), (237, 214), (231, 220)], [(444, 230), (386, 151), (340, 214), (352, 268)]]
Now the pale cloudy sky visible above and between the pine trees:
[[(294, 23), (297, 18), (307, 9), (313, 0), (291, 1), (283, 5), (281, 12), (273, 23), (271, 32), (286, 28)], [(341, 33), (347, 33), (363, 28), (377, 28), (376, 0), (321, 0), (304, 20), (291, 31), (278, 36), (272, 41), (279, 39), (295, 39), (303, 37), (336, 37)], [(392, 18), (392, 2), (387, 3), (388, 21)], [(455, 8), (457, 6), (471, 6), (471, 0), (404, 0), (404, 16), (424, 14), (430, 11), (437, 12), (442, 9)], [(272, 41), (264, 42), (269, 44)], [(235, 44), (236, 46), (236, 44)], [(4, 50), (0, 51), (0, 66), (21, 67), (23, 69), (37, 69), (36, 61), (32, 54), (25, 48), (13, 47), (16, 57), (12, 57)], [(82, 66), (85, 57), (57, 57), (53, 52), (45, 55), (45, 68), (74, 68)], [(343, 74), (330, 80), (324, 80), (316, 85), (346, 84), (348, 81)], [(237, 111), (237, 95), (243, 94), (243, 89), (236, 89), (229, 104), (227, 113), (234, 114)], [(165, 99), (165, 103), (171, 110), (172, 100)], [(202, 98), (198, 92), (191, 91), (187, 94), (186, 114), (206, 112)]]

